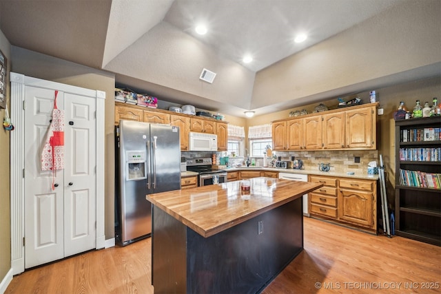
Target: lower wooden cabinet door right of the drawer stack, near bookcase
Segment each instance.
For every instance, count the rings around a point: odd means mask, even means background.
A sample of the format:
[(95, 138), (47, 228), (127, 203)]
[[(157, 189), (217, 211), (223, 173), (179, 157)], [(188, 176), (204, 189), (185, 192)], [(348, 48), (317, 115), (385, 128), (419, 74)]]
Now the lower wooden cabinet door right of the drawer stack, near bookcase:
[(372, 227), (373, 193), (351, 189), (340, 189), (338, 218), (363, 227)]

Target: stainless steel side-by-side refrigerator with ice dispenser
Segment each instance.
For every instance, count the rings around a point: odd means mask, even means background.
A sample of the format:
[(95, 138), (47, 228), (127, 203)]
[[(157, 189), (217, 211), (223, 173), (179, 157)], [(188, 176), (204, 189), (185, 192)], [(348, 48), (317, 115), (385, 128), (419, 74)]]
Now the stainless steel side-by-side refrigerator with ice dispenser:
[(120, 120), (115, 134), (115, 234), (126, 245), (152, 233), (145, 196), (181, 189), (179, 128)]

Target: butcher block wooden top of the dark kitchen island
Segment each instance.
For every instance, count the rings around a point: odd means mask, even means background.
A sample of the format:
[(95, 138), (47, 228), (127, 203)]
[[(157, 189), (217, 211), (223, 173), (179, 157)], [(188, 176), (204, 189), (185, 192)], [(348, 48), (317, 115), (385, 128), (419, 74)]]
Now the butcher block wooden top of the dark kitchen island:
[(249, 181), (249, 191), (242, 191), (243, 181), (238, 180), (154, 193), (146, 198), (207, 238), (322, 187), (312, 182), (264, 177)]

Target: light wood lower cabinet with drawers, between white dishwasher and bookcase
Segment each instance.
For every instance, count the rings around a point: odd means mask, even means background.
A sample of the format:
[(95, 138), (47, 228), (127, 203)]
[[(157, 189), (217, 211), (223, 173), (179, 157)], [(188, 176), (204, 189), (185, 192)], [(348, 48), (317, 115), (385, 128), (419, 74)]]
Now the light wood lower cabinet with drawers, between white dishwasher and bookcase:
[(377, 181), (309, 176), (324, 186), (309, 193), (309, 213), (353, 227), (377, 231)]

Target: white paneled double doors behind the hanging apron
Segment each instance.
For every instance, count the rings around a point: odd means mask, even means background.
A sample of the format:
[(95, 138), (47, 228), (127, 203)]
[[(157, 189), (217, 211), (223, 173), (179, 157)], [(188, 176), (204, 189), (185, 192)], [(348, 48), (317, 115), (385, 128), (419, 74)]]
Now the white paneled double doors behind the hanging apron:
[(65, 166), (54, 174), (40, 163), (53, 107), (54, 90), (25, 86), (25, 268), (96, 246), (95, 102), (59, 91)]

